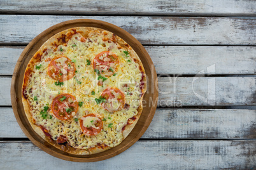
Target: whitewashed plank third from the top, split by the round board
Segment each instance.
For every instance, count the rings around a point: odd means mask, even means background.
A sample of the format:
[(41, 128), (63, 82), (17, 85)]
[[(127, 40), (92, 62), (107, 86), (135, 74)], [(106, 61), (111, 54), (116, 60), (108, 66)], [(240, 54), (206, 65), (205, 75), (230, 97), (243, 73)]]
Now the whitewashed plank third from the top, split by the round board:
[[(25, 47), (0, 47), (0, 75), (11, 75)], [(157, 74), (198, 74), (215, 65), (214, 74), (255, 74), (256, 47), (145, 46)]]

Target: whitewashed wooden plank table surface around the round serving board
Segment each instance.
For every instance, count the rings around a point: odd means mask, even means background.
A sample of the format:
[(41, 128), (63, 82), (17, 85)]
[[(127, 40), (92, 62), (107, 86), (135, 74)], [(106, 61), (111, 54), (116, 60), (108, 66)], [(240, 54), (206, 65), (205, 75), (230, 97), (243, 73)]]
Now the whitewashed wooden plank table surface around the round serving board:
[[(255, 1), (0, 4), (0, 169), (256, 169)], [(68, 162), (41, 151), (11, 108), (11, 75), (22, 50), (48, 27), (77, 18), (130, 32), (159, 76), (159, 103), (146, 133), (100, 162)]]

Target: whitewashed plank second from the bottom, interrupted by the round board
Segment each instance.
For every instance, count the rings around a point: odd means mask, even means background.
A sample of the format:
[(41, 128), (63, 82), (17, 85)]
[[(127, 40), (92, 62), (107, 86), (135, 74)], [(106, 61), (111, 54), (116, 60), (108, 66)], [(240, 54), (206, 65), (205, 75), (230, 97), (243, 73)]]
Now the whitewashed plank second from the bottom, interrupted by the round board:
[[(12, 108), (0, 108), (0, 117), (0, 138), (26, 138)], [(157, 109), (141, 139), (253, 139), (255, 120), (256, 110)]]

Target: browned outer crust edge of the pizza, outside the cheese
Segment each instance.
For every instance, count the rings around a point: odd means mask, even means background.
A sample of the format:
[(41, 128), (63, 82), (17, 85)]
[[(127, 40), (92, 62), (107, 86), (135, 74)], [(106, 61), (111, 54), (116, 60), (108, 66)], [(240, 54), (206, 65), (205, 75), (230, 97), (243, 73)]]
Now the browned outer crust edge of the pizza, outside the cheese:
[[(43, 53), (45, 53), (45, 50), (48, 48), (48, 46), (55, 46), (55, 48), (57, 48), (59, 45), (62, 45), (62, 44), (65, 44), (66, 42), (68, 42), (68, 40), (73, 36), (73, 34), (79, 33), (83, 37), (88, 37), (89, 32), (92, 32), (92, 31), (103, 32), (106, 30), (92, 28), (92, 27), (76, 27), (76, 28), (64, 30), (62, 32), (59, 32), (58, 34), (55, 34), (55, 36), (52, 36), (50, 39), (48, 39), (48, 41), (46, 41), (41, 46), (41, 48), (38, 49), (38, 51), (35, 53), (35, 55), (31, 58), (29, 64), (27, 65), (27, 68), (25, 70), (25, 74), (24, 74), (24, 83), (23, 83), (23, 87), (22, 87), (23, 88), (22, 89), (22, 92), (23, 92), (22, 103), (24, 105), (25, 114), (27, 116), (27, 119), (29, 120), (29, 123), (31, 124), (32, 129), (34, 129), (34, 131), (36, 131), (36, 133), (38, 133), (39, 136), (41, 136), (41, 138), (48, 141), (48, 143), (50, 143), (51, 145), (53, 145), (56, 148), (59, 148), (60, 150), (64, 150), (65, 152), (68, 152), (69, 154), (77, 154), (77, 155), (97, 154), (99, 152), (103, 152), (104, 150), (110, 149), (110, 147), (108, 147), (106, 145), (97, 145), (96, 147), (92, 147), (87, 150), (83, 150), (83, 149), (79, 149), (79, 148), (73, 148), (70, 145), (68, 145), (68, 143), (58, 144), (56, 141), (52, 140), (52, 138), (49, 138), (48, 136), (46, 136), (46, 134), (43, 133), (42, 129), (32, 122), (33, 118), (32, 118), (31, 112), (30, 112), (31, 107), (29, 106), (29, 102), (27, 101), (27, 98), (24, 95), (24, 90), (27, 86), (27, 82), (29, 81), (30, 75), (33, 74), (33, 72), (34, 72), (34, 70), (33, 70), (34, 65), (36, 65), (36, 63), (41, 61), (41, 56), (43, 55)], [(120, 46), (122, 46), (122, 48), (126, 49), (126, 51), (129, 51), (130, 56), (133, 58), (134, 62), (138, 63), (141, 73), (144, 74), (142, 81), (145, 82), (144, 86), (141, 88), (141, 99), (139, 102), (140, 105), (138, 108), (138, 114), (134, 116), (134, 117), (136, 117), (136, 119), (131, 124), (125, 125), (124, 131), (123, 131), (123, 136), (125, 139), (129, 135), (129, 133), (131, 133), (132, 129), (138, 122), (141, 112), (143, 110), (142, 100), (143, 100), (143, 96), (146, 92), (146, 76), (145, 76), (145, 70), (144, 70), (143, 64), (141, 63), (141, 60), (139, 59), (136, 52), (123, 39), (121, 39), (118, 36), (115, 36), (115, 37), (117, 38), (116, 41), (118, 42), (118, 44), (120, 44)]]

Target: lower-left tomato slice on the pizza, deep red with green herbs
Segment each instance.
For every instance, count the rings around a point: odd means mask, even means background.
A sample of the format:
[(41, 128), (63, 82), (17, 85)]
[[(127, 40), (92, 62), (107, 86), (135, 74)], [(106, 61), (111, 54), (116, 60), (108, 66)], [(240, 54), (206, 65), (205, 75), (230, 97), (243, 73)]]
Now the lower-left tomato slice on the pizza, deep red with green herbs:
[(78, 111), (78, 102), (75, 96), (62, 94), (56, 96), (52, 101), (52, 112), (57, 119), (68, 120)]

